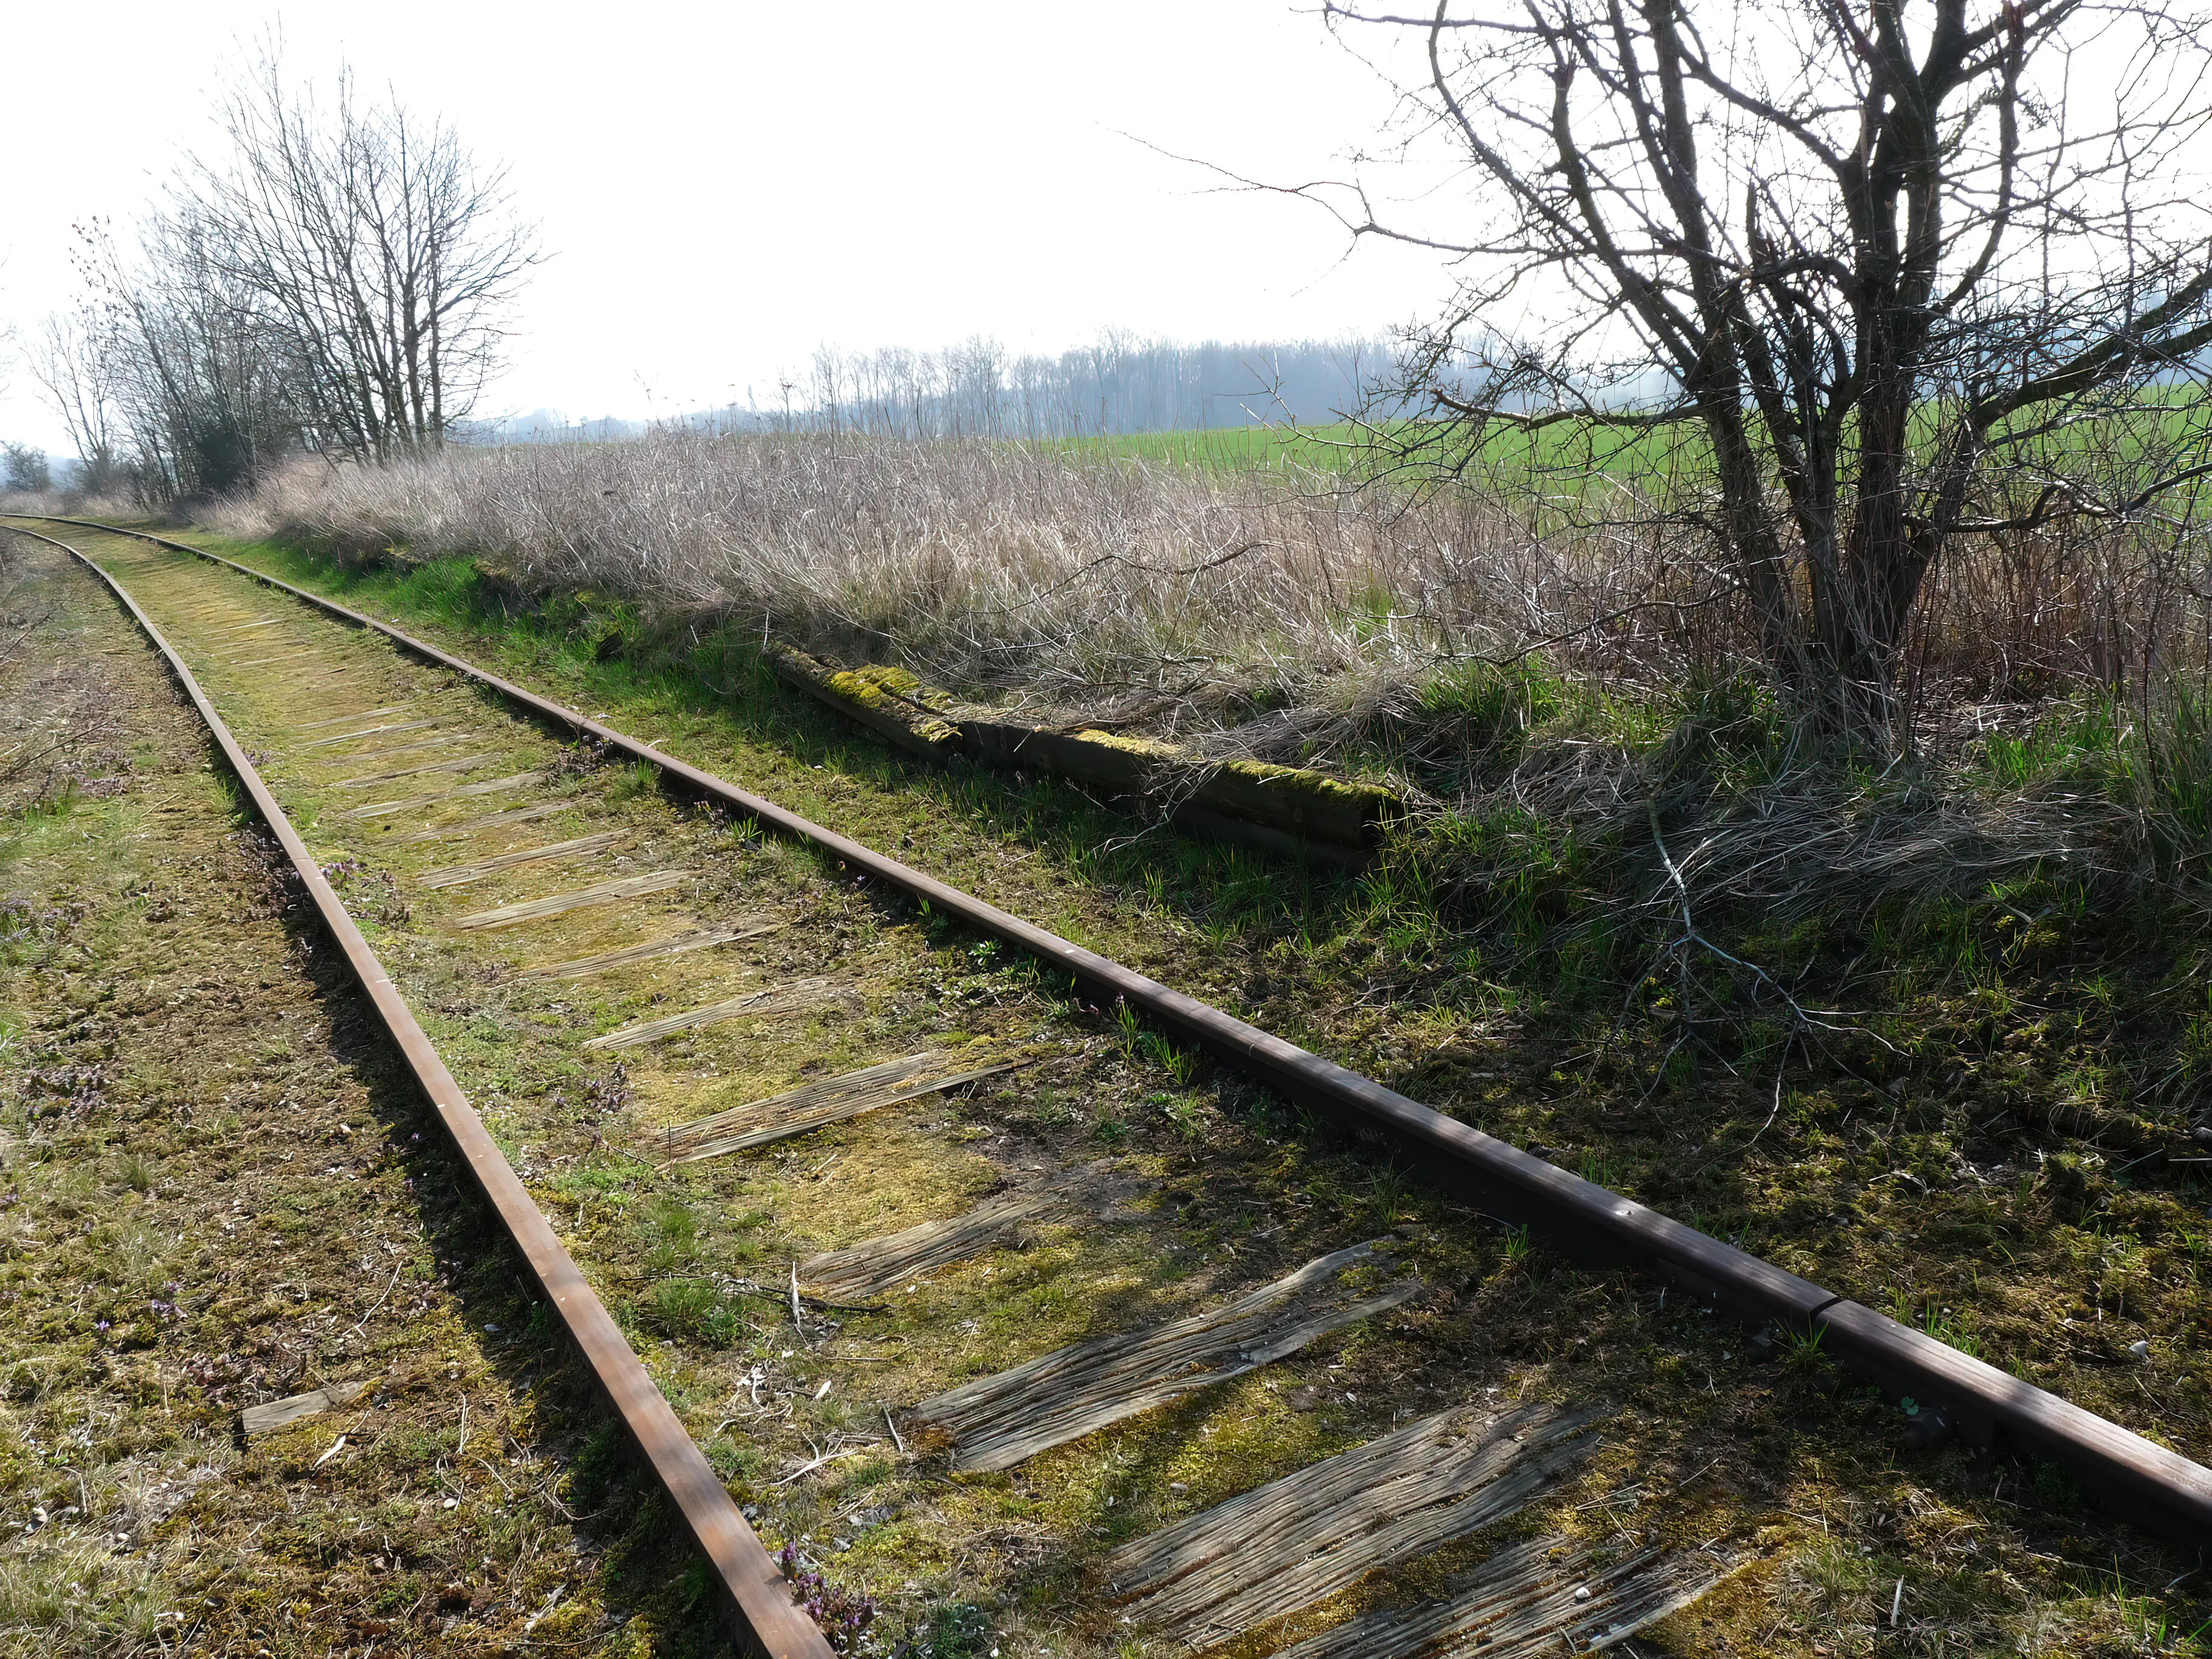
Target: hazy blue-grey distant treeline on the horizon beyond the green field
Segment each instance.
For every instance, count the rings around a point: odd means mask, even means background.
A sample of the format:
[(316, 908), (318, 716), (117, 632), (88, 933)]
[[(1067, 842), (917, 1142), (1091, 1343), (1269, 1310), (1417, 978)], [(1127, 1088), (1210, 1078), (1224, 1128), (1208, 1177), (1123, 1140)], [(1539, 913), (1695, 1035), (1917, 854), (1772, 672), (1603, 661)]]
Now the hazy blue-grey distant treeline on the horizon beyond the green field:
[[(1091, 438), (1336, 420), (1391, 361), (1383, 341), (1146, 341), (1106, 332), (1057, 356), (975, 338), (942, 352), (823, 347), (768, 400), (699, 409), (666, 425), (708, 431), (860, 431), (885, 438)], [(480, 422), (480, 442), (606, 442), (650, 422), (566, 422), (551, 411)]]

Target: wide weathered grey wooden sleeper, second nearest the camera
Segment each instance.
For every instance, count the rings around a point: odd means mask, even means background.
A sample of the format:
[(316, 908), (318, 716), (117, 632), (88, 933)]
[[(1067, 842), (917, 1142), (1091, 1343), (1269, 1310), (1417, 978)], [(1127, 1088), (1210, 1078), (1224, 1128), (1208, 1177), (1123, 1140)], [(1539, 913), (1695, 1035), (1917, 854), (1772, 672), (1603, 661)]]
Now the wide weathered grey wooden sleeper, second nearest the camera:
[(1133, 1540), (1106, 1571), (1128, 1617), (1210, 1646), (1520, 1511), (1595, 1451), (1601, 1416), (1440, 1411)]

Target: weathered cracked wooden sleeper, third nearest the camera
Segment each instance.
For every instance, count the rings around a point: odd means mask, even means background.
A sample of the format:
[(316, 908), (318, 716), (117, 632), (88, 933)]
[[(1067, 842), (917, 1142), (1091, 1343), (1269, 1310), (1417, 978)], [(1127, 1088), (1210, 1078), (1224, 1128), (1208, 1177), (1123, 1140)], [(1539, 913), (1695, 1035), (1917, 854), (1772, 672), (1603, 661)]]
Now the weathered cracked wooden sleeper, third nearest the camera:
[(1376, 1239), (1321, 1256), (1206, 1314), (1075, 1343), (964, 1383), (922, 1400), (911, 1420), (951, 1436), (953, 1469), (1011, 1469), (1396, 1307), (1420, 1290), (1420, 1281), (1396, 1272), (1400, 1263), (1380, 1245)]

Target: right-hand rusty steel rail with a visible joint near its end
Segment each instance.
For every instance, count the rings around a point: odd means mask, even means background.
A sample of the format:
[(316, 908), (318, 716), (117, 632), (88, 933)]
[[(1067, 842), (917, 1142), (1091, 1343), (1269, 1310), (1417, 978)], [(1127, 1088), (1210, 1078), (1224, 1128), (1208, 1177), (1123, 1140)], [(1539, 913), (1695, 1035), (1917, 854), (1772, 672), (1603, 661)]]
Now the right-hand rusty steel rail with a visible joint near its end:
[(684, 790), (723, 801), (779, 834), (821, 847), (847, 869), (927, 900), (931, 909), (1029, 951), (1095, 993), (1124, 1000), (1166, 1031), (1197, 1042), (1287, 1099), (1329, 1110), (1380, 1137), (1411, 1159), (1413, 1175), (1420, 1179), (1478, 1203), (1493, 1217), (1535, 1228), (1568, 1256), (1595, 1265), (1641, 1267), (1705, 1296), (1752, 1327), (1778, 1325), (1818, 1338), (1820, 1352), (1836, 1365), (1876, 1383), (1891, 1398), (1909, 1396), (1918, 1407), (1940, 1413), (1933, 1422), (1942, 1425), (1944, 1431), (1955, 1431), (1969, 1444), (1991, 1447), (2002, 1440), (2017, 1451), (2064, 1467), (2086, 1491), (2146, 1531), (2197, 1546), (2212, 1542), (2212, 1469), (2008, 1371), (1984, 1365), (1949, 1343), (1938, 1343), (1933, 1336), (1798, 1279), (1770, 1261), (1686, 1228), (1635, 1199), (1624, 1199), (1568, 1175), (1555, 1164), (1385, 1088), (1371, 1077), (1283, 1042), (1212, 1004), (1170, 991), (1110, 958), (1086, 951), (1020, 916), (825, 830), (765, 796), (701, 772), (650, 743), (639, 743), (613, 726), (489, 675), (392, 624), (190, 542), (91, 520), (55, 518), (51, 522), (128, 535), (190, 553), (290, 593), (332, 617), (380, 633), (425, 661), (451, 668), (500, 692), (540, 719), (646, 761)]

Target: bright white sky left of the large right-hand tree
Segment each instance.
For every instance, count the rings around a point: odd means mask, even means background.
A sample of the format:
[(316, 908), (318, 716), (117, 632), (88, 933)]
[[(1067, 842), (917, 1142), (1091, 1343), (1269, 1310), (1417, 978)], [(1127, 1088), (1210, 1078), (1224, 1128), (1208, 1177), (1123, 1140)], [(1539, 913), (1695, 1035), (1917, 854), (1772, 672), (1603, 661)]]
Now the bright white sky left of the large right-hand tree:
[[(208, 88), (272, 24), (294, 75), (343, 55), (511, 166), (551, 259), (484, 414), (768, 405), (825, 341), (1374, 334), (1449, 288), (1433, 257), (1343, 261), (1321, 210), (1137, 142), (1343, 175), (1391, 100), (1312, 0), (195, 0), (13, 9), (0, 319), (69, 301), (71, 221), (126, 221), (210, 144)], [(20, 367), (0, 436), (64, 447)]]

